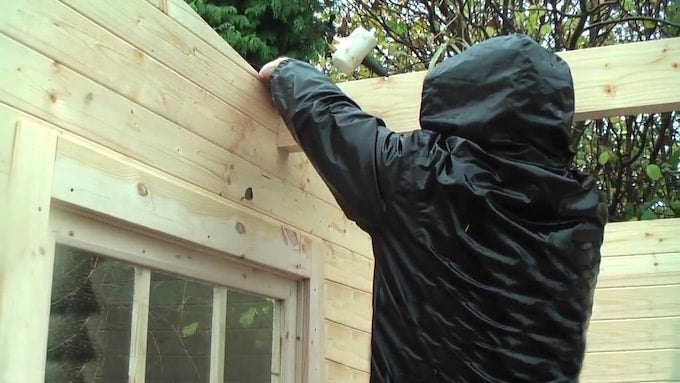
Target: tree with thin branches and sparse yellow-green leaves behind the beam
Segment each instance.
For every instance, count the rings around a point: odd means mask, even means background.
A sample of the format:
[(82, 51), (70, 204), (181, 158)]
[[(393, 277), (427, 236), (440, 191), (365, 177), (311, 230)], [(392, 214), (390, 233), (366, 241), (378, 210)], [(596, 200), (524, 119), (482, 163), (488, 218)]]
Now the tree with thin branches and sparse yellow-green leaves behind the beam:
[[(493, 36), (525, 33), (555, 51), (675, 37), (678, 0), (338, 0), (336, 33), (376, 28), (375, 58), (391, 73), (426, 70)], [(650, 58), (651, 59), (651, 58)], [(371, 76), (337, 72), (337, 81)], [(612, 221), (680, 217), (680, 114), (578, 122), (575, 166), (596, 174)]]

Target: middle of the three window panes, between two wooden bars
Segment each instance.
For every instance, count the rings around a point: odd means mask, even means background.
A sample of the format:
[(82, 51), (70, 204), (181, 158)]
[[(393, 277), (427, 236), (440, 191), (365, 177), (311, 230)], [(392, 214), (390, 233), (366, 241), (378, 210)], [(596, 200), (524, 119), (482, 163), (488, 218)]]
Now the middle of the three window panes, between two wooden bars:
[(208, 382), (213, 288), (152, 272), (146, 382)]

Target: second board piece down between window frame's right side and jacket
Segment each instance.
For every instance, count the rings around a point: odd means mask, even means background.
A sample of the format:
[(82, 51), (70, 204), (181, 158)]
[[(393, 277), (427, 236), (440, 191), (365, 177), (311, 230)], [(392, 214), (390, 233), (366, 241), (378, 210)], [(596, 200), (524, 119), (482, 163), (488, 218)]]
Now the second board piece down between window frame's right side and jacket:
[(361, 331), (371, 332), (371, 294), (337, 283), (324, 283), (326, 318)]

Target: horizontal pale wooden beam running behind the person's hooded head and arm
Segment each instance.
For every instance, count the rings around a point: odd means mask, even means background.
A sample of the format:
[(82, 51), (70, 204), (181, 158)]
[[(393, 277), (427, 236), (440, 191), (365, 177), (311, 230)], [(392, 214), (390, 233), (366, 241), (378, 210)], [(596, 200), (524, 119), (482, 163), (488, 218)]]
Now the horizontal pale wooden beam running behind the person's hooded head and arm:
[[(574, 78), (576, 121), (680, 110), (680, 38), (559, 52)], [(426, 72), (338, 84), (395, 132), (418, 129)], [(285, 127), (279, 148), (299, 152)]]

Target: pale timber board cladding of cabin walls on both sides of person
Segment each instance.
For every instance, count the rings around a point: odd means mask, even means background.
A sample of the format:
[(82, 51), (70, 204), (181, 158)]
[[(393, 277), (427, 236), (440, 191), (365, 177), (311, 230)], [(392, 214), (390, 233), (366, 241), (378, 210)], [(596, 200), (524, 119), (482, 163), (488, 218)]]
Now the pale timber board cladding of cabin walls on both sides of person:
[[(209, 201), (193, 201), (196, 214), (246, 222), (251, 239), (235, 255), (295, 274), (311, 253), (258, 257), (320, 245), (320, 379), (367, 382), (370, 239), (302, 154), (277, 149), (282, 122), (252, 68), (182, 0), (35, 0), (3, 11), (3, 129), (53, 132), (63, 172), (90, 164), (178, 203), (188, 194), (177, 185), (190, 185)], [(101, 202), (96, 185), (87, 192)], [(187, 235), (181, 222), (169, 227)], [(241, 238), (211, 230), (202, 239), (211, 247)], [(610, 225), (583, 382), (677, 381), (679, 350), (680, 221)]]

